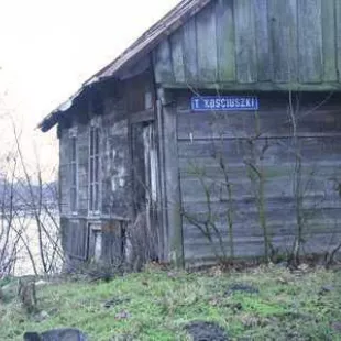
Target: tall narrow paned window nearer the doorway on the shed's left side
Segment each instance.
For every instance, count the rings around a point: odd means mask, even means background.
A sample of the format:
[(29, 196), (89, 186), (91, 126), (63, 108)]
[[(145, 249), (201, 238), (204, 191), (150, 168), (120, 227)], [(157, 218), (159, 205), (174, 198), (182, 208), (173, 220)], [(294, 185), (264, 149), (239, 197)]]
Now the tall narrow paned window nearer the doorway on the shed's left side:
[(96, 125), (90, 128), (90, 153), (89, 153), (89, 210), (91, 213), (100, 211), (99, 183), (100, 183), (100, 130)]

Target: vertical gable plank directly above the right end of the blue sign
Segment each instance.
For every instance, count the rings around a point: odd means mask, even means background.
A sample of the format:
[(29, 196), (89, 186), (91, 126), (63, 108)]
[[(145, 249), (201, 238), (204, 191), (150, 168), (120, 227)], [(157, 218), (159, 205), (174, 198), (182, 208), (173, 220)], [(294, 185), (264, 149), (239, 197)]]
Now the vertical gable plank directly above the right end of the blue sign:
[(252, 1), (234, 1), (234, 25), (238, 81), (254, 82), (257, 80), (257, 58)]

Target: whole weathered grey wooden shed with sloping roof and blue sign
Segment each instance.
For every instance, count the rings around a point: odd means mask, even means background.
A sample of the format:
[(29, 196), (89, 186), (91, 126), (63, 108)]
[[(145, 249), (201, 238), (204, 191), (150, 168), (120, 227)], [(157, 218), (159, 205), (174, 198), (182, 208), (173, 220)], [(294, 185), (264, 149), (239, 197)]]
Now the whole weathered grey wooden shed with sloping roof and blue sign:
[(336, 249), (340, 70), (339, 0), (182, 1), (40, 125), (68, 258)]

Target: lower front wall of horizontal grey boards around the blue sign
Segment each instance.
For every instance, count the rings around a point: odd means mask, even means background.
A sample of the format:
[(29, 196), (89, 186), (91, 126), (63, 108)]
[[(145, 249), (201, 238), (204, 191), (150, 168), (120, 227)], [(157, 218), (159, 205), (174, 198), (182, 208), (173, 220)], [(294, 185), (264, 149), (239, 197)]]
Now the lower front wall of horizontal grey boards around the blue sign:
[[(193, 112), (189, 98), (190, 94), (178, 92), (177, 135), (187, 264), (213, 257), (207, 238), (190, 221), (191, 218), (205, 221), (210, 210), (211, 221), (223, 238), (227, 254), (230, 253), (228, 211), (231, 207), (235, 255), (264, 255), (256, 201), (260, 186), (257, 180), (252, 180), (255, 174), (250, 172), (252, 164), (264, 174), (264, 211), (273, 243), (282, 252), (289, 250), (297, 226), (294, 195), (297, 155), (302, 175), (304, 249), (323, 252), (340, 241), (340, 96), (293, 95), (297, 141), (293, 139), (288, 95), (260, 94), (257, 113)], [(231, 185), (231, 201), (226, 175)], [(218, 239), (213, 241), (219, 250)]]

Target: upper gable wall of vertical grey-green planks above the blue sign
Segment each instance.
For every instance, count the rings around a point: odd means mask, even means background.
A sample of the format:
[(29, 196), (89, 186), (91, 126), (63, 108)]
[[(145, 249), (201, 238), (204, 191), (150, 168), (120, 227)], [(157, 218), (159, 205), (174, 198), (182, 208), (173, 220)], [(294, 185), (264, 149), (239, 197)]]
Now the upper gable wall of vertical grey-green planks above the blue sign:
[(156, 82), (340, 89), (339, 0), (213, 0), (154, 52)]

